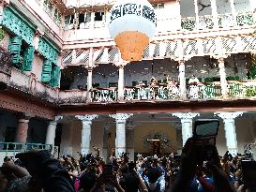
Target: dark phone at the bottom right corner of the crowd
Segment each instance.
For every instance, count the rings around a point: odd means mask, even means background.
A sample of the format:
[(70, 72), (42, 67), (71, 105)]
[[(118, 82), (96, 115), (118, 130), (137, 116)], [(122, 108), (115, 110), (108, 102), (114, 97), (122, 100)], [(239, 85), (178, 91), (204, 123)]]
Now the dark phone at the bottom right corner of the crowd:
[(241, 167), (243, 184), (246, 188), (256, 189), (256, 161), (242, 160)]

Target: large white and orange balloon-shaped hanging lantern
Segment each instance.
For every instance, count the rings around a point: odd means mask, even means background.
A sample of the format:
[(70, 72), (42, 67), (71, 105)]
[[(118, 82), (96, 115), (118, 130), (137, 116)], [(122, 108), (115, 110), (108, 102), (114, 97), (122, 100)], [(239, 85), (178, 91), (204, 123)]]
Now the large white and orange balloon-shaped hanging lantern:
[(147, 0), (119, 0), (111, 9), (110, 34), (125, 61), (142, 60), (156, 26), (154, 8)]

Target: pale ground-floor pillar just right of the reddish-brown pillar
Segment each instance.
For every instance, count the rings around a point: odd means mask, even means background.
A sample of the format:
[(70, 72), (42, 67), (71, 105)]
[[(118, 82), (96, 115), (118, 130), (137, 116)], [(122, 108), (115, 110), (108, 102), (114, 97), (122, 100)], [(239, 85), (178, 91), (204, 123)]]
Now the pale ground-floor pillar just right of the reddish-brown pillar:
[(55, 131), (58, 122), (63, 118), (63, 116), (56, 116), (54, 121), (49, 122), (46, 132), (45, 144), (52, 144), (54, 146)]

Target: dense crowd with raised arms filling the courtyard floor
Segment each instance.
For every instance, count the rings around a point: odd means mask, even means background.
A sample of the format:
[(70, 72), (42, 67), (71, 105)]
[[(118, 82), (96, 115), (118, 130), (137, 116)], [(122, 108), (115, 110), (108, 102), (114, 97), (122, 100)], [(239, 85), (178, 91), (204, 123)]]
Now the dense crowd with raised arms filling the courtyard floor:
[[(188, 139), (182, 155), (112, 155), (106, 160), (94, 154), (79, 159), (53, 159), (49, 151), (32, 150), (6, 157), (0, 169), (0, 192), (255, 192), (256, 181), (244, 185), (241, 160), (251, 155), (218, 155), (199, 163), (193, 141)], [(256, 172), (253, 170), (252, 172)], [(254, 177), (256, 178), (256, 177)]]

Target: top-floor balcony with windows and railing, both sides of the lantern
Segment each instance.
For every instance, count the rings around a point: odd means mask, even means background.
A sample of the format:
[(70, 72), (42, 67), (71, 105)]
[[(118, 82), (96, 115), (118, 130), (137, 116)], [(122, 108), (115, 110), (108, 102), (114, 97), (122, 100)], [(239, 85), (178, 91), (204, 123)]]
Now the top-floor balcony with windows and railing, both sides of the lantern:
[[(168, 1), (162, 4), (155, 2), (153, 6), (158, 18), (157, 33), (153, 41), (223, 37), (227, 35), (227, 31), (229, 34), (237, 31), (249, 34), (255, 26), (255, 7), (250, 0), (242, 3), (240, 0)], [(74, 16), (67, 15), (64, 23), (64, 49), (114, 45), (107, 26), (109, 10), (81, 10)]]

